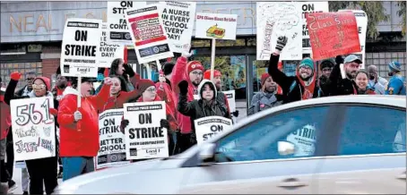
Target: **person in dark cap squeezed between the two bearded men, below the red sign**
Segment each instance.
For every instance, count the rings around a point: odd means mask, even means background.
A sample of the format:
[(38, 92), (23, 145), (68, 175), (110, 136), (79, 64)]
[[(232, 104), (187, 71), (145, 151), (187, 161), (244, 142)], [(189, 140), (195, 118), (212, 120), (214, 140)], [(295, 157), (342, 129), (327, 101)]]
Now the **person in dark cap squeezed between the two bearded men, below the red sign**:
[(331, 75), (333, 69), (334, 61), (333, 59), (325, 59), (320, 64), (320, 70), (322, 72), (321, 76), (318, 78), (317, 85), (320, 90), (321, 97), (329, 96), (329, 76)]

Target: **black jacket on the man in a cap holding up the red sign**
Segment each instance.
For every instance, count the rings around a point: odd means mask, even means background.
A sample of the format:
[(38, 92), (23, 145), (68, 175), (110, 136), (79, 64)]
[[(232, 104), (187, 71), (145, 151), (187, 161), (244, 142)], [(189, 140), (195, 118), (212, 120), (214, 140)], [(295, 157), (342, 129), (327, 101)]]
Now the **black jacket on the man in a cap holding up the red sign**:
[(356, 95), (358, 87), (355, 81), (348, 78), (342, 79), (340, 64), (335, 64), (326, 89), (329, 89), (329, 96)]

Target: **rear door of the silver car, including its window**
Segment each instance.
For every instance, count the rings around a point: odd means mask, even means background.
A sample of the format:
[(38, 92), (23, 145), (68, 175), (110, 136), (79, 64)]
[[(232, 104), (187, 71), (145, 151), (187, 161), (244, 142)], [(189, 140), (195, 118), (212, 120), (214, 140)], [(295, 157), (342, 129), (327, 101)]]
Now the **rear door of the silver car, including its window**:
[(321, 194), (402, 194), (405, 186), (405, 108), (349, 105), (318, 174)]

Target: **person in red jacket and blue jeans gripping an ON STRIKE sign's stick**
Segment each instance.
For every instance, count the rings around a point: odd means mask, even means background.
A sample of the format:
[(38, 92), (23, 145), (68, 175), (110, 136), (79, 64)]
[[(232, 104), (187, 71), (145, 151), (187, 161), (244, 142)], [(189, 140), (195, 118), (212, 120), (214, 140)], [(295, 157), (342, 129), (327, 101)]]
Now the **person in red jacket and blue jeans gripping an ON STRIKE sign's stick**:
[[(93, 157), (98, 155), (100, 148), (97, 107), (107, 102), (111, 81), (106, 78), (100, 93), (91, 96), (93, 81), (95, 79), (82, 78), (82, 82), (78, 83), (81, 91), (67, 87), (59, 105), (59, 152), (64, 165), (63, 181), (94, 171)], [(80, 108), (77, 107), (77, 96), (81, 96)]]

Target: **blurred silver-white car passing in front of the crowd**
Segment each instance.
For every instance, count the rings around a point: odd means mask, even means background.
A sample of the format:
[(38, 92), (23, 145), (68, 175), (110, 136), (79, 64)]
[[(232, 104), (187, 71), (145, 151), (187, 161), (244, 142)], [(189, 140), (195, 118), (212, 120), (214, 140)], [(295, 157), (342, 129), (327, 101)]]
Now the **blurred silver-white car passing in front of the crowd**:
[(321, 97), (273, 107), (183, 154), (84, 174), (56, 194), (406, 191), (406, 97)]

